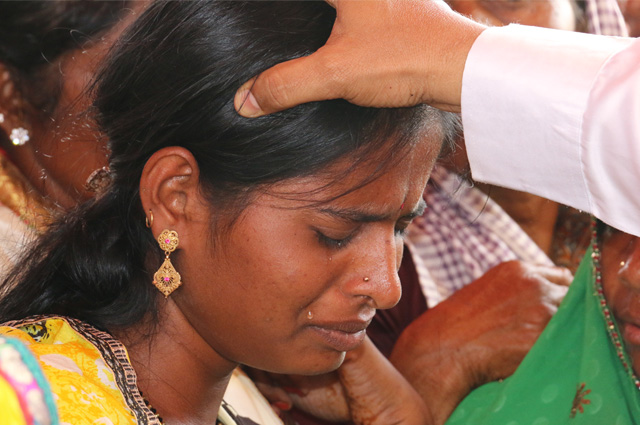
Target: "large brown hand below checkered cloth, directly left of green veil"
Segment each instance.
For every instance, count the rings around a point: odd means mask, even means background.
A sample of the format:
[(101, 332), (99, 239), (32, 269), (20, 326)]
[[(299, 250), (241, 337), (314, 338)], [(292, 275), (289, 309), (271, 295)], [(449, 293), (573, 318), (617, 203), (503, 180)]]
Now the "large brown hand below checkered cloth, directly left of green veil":
[(434, 424), (473, 388), (515, 371), (571, 278), (564, 268), (502, 263), (405, 329), (390, 360), (434, 412)]

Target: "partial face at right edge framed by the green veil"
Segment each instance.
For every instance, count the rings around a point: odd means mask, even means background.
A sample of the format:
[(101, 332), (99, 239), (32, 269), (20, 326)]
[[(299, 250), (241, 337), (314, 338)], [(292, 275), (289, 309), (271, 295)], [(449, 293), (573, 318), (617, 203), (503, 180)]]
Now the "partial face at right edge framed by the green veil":
[(602, 285), (636, 374), (640, 373), (640, 239), (609, 229), (602, 240)]

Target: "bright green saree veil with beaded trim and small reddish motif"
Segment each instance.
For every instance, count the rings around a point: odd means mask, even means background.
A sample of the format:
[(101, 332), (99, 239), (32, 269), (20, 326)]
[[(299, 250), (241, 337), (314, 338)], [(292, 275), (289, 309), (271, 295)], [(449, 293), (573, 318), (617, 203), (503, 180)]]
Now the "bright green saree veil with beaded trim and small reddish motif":
[(516, 372), (474, 390), (447, 425), (640, 424), (640, 390), (601, 295), (598, 255), (594, 245)]

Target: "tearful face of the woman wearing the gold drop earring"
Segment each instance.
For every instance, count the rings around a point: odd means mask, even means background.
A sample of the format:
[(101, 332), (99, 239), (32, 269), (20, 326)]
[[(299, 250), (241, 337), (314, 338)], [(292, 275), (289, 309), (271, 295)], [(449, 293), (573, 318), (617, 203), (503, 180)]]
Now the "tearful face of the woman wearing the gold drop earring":
[(222, 238), (194, 228), (200, 245), (181, 253), (184, 284), (172, 298), (223, 359), (281, 373), (335, 369), (362, 342), (375, 310), (400, 298), (402, 234), (424, 208), (439, 149), (439, 137), (425, 138), (344, 196), (377, 164), (325, 189), (348, 161), (328, 177), (276, 184)]

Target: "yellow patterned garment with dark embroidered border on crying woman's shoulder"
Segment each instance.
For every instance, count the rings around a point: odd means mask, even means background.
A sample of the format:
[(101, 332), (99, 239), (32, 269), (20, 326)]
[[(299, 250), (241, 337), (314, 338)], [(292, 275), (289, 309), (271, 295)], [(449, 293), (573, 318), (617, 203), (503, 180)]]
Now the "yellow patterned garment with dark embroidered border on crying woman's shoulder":
[[(160, 423), (145, 405), (135, 386), (135, 372), (129, 364), (124, 346), (108, 334), (82, 322), (60, 317), (34, 318), (12, 325), (0, 327), (0, 334), (20, 339), (38, 359), (56, 395), (61, 423)], [(79, 330), (85, 335), (81, 335)], [(121, 350), (119, 354), (124, 364), (114, 365), (113, 358), (105, 359), (87, 337), (95, 338), (109, 354)], [(119, 382), (116, 382), (114, 366), (118, 373), (124, 375), (119, 377)], [(129, 381), (129, 385), (126, 381)], [(130, 399), (129, 403), (125, 400), (125, 394)], [(131, 405), (139, 415), (144, 416), (144, 420), (136, 421)]]

